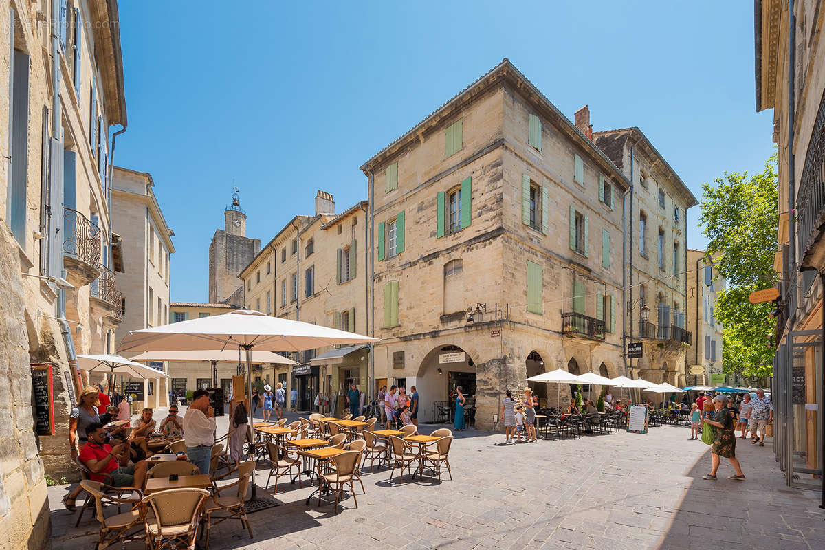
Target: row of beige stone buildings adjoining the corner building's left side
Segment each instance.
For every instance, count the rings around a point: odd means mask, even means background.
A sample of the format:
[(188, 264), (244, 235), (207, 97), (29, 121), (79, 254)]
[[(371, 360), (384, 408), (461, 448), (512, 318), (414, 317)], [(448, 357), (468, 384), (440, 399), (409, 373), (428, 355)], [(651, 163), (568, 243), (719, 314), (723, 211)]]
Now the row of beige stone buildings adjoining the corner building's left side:
[[(295, 216), (241, 272), (247, 308), (365, 334), (367, 204), (336, 214), (332, 195), (319, 190), (315, 215)], [(369, 346), (307, 350), (291, 354), (299, 365), (265, 366), (263, 375), (295, 388), (300, 411), (341, 411), (342, 387), (369, 392), (368, 355)]]

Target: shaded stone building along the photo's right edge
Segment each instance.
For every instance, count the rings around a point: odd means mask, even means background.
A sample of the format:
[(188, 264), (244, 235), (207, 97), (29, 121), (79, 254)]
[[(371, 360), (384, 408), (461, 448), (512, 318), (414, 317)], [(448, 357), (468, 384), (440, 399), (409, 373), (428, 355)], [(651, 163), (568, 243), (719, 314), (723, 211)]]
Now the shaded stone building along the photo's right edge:
[(790, 487), (825, 491), (825, 2), (757, 0), (754, 20), (757, 111), (773, 109), (779, 155), (774, 449)]

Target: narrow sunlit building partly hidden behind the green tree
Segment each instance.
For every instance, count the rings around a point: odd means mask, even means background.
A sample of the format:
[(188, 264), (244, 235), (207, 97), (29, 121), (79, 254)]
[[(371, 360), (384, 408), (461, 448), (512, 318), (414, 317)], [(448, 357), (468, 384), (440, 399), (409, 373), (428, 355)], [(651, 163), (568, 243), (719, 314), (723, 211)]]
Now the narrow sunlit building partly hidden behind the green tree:
[[(716, 299), (724, 290), (724, 278), (713, 262), (707, 260), (707, 251), (687, 251), (687, 318), (693, 333), (687, 350), (687, 363), (699, 365), (703, 373), (688, 373), (686, 383), (691, 386), (725, 383), (722, 374), (722, 323), (714, 316)], [(738, 385), (738, 380), (732, 383)]]

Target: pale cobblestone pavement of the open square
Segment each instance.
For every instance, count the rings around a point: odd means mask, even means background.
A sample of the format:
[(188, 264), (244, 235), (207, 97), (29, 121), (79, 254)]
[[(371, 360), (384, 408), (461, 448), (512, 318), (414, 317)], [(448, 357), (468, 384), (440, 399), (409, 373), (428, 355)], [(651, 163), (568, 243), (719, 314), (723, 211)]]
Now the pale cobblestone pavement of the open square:
[[(281, 505), (250, 515), (255, 538), (226, 522), (210, 548), (825, 548), (818, 493), (785, 487), (771, 444), (737, 440), (747, 481), (728, 480), (724, 461), (708, 482), (709, 448), (689, 436), (662, 426), (503, 445), (503, 435), (467, 430), (450, 449), (452, 481), (365, 472), (358, 508), (348, 498), (337, 515), (304, 505), (311, 488), (282, 481)], [(93, 548), (97, 522), (87, 513), (75, 529), (60, 505), (66, 490), (50, 487), (54, 548)]]

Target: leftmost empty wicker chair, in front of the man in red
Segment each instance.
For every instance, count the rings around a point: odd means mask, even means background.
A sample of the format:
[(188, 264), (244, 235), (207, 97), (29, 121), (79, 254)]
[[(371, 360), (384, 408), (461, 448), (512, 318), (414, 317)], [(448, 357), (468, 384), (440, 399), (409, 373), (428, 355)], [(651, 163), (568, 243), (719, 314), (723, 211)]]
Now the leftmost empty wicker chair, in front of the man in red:
[[(120, 505), (130, 504), (136, 505), (143, 499), (144, 494), (136, 489), (118, 488), (104, 485), (101, 482), (93, 482), (91, 479), (84, 479), (80, 482), (80, 486), (92, 496), (95, 503), (95, 515), (97, 521), (101, 524), (101, 532), (97, 536), (97, 548), (106, 548), (113, 543), (129, 543), (135, 540), (145, 538), (143, 523), (144, 519), (140, 516), (140, 511), (133, 507), (128, 512), (120, 513)], [(128, 498), (122, 498), (123, 492), (130, 492)], [(112, 496), (112, 493), (118, 496)], [(111, 515), (108, 518), (103, 514), (103, 505), (106, 502), (111, 502), (118, 506), (118, 513)]]

